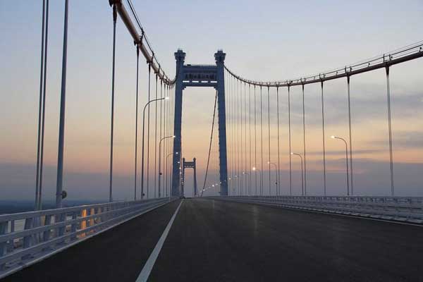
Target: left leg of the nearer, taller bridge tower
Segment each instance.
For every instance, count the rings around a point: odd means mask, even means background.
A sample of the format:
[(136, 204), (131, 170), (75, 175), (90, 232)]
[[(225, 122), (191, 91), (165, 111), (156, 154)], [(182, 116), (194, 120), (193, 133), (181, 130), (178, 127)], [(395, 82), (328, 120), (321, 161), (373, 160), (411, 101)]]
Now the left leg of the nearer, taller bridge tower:
[(176, 59), (176, 85), (175, 85), (175, 118), (173, 123), (173, 172), (172, 172), (172, 192), (173, 197), (179, 197), (180, 191), (180, 149), (181, 149), (181, 119), (182, 119), (182, 92), (183, 92), (183, 63), (185, 62), (185, 53), (178, 50), (175, 53)]

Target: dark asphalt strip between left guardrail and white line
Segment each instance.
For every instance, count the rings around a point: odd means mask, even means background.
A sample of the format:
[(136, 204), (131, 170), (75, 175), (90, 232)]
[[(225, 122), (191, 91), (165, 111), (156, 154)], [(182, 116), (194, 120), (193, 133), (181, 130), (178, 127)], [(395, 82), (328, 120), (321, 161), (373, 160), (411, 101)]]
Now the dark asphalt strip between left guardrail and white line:
[(134, 282), (179, 202), (137, 216), (1, 281)]

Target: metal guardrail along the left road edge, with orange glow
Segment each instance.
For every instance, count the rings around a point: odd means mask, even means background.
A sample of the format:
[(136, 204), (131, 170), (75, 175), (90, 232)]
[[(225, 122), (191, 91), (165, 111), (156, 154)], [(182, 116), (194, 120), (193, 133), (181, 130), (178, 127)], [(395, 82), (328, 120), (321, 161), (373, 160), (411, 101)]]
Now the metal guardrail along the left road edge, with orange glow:
[(110, 202), (0, 215), (0, 278), (175, 198)]

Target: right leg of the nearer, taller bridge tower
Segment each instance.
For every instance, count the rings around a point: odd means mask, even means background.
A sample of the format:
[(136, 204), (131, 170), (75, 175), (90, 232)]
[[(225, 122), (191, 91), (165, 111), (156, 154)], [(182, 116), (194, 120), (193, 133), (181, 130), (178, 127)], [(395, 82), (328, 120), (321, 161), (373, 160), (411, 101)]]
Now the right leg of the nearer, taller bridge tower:
[(220, 195), (228, 195), (228, 164), (226, 157), (226, 110), (225, 110), (225, 61), (226, 54), (222, 50), (214, 54), (217, 75), (217, 106), (219, 111), (219, 173)]

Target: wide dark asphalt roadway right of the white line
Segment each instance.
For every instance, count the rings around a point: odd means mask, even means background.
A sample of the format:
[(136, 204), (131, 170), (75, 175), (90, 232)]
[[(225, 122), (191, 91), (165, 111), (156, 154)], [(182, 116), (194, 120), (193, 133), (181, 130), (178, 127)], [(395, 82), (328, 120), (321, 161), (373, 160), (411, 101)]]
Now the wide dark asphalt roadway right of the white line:
[(423, 281), (423, 228), (185, 200), (149, 281)]

